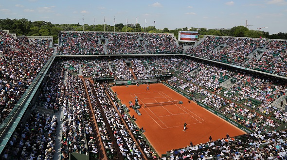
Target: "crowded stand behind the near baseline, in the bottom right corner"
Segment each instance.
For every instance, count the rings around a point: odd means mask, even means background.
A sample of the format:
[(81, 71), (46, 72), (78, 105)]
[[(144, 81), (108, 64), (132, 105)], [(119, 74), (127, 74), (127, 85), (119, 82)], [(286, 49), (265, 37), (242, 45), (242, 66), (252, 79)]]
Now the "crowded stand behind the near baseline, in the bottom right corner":
[(168, 156), (164, 158), (169, 160), (284, 160), (287, 158), (286, 144), (286, 130), (267, 133), (258, 131), (173, 149), (167, 152)]

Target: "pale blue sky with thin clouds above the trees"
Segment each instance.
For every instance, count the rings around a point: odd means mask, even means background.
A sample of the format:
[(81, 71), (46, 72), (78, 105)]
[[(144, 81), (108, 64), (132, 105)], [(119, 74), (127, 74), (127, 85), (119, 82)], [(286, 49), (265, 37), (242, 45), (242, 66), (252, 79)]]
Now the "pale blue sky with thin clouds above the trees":
[(286, 33), (287, 0), (0, 0), (0, 19), (92, 25), (104, 24), (104, 17), (111, 26), (114, 19), (124, 25), (137, 19), (142, 27), (169, 30), (230, 29), (248, 20), (250, 30)]

